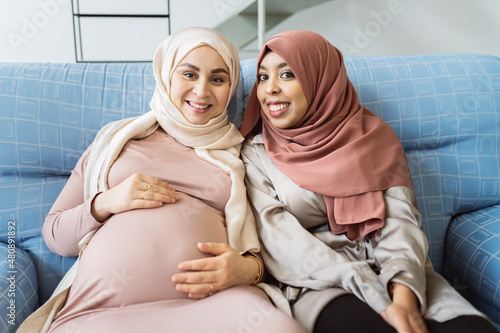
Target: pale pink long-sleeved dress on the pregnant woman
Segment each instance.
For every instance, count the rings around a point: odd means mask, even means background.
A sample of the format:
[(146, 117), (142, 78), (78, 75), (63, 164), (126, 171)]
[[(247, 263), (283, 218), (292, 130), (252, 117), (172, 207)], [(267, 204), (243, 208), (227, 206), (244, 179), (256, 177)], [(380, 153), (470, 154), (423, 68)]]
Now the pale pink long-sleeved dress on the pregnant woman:
[[(83, 199), (88, 155), (82, 155), (44, 225), (45, 241), (56, 253), (76, 255), (78, 241), (101, 226), (90, 213), (92, 198)], [(134, 173), (168, 182), (180, 200), (113, 215), (100, 227), (80, 257), (51, 333), (303, 332), (257, 287), (193, 300), (171, 282), (181, 261), (207, 256), (198, 242), (227, 243), (227, 174), (161, 129), (127, 143), (111, 167), (109, 186)]]

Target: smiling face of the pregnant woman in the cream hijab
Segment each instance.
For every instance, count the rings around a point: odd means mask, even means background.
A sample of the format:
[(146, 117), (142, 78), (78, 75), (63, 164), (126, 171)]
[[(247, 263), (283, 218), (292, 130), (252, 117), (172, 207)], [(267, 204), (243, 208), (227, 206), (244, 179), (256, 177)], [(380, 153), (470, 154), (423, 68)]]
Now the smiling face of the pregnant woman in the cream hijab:
[(189, 52), (172, 75), (170, 99), (192, 124), (203, 125), (219, 116), (230, 94), (229, 69), (210, 46)]

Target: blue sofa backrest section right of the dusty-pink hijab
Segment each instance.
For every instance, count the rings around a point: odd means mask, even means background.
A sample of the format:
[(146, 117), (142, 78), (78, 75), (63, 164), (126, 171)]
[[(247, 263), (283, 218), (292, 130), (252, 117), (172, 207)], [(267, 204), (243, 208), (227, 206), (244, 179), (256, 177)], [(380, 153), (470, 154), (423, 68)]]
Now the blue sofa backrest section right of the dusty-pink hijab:
[(400, 138), (440, 271), (450, 220), (500, 202), (500, 59), (416, 55), (351, 58), (363, 105)]

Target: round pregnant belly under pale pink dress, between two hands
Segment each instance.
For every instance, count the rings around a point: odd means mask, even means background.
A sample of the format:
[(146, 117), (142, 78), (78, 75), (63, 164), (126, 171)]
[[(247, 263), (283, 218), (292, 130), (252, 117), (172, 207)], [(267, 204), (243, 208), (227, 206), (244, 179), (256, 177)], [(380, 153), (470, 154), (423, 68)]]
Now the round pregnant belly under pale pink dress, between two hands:
[(227, 233), (222, 213), (189, 196), (117, 214), (82, 254), (71, 297), (93, 308), (187, 298), (171, 277), (181, 261), (209, 257), (198, 242), (227, 243)]

